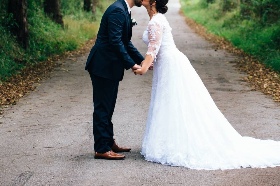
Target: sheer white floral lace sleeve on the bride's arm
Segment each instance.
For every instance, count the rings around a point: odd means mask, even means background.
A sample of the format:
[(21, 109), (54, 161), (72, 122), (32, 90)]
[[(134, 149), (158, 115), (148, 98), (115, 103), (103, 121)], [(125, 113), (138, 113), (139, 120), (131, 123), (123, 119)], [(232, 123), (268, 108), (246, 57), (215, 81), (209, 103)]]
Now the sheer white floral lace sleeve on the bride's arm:
[(148, 26), (148, 35), (149, 44), (146, 55), (151, 55), (152, 57), (155, 57), (156, 61), (157, 53), (160, 49), (160, 45), (162, 42), (162, 26), (158, 23), (151, 22)]

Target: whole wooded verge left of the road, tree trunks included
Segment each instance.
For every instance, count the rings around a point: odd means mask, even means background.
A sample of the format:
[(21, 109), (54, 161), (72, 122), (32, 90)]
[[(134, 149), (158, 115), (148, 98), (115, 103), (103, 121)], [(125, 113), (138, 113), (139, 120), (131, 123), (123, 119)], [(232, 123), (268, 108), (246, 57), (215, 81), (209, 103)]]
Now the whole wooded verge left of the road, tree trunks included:
[(111, 2), (1, 1), (0, 83), (21, 73), (24, 67), (79, 49), (83, 43), (96, 36), (101, 16)]

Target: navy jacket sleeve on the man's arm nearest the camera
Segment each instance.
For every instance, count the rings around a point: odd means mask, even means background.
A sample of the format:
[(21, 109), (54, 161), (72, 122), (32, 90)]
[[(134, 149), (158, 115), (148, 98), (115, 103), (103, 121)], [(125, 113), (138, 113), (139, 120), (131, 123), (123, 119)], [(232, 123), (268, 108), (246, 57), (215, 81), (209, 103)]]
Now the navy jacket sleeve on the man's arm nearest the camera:
[(128, 70), (135, 65), (135, 62), (129, 56), (125, 50), (125, 46), (122, 43), (122, 30), (126, 21), (125, 12), (121, 8), (115, 8), (108, 15), (108, 29), (109, 29), (109, 42), (113, 52), (121, 60), (125, 69)]

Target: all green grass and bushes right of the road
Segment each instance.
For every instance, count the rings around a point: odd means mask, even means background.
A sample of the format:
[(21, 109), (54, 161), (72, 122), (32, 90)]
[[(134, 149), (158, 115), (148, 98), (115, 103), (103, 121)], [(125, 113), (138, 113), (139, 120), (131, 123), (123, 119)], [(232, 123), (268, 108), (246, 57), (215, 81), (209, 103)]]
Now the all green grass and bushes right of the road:
[(185, 15), (280, 72), (280, 0), (202, 1), (181, 0)]

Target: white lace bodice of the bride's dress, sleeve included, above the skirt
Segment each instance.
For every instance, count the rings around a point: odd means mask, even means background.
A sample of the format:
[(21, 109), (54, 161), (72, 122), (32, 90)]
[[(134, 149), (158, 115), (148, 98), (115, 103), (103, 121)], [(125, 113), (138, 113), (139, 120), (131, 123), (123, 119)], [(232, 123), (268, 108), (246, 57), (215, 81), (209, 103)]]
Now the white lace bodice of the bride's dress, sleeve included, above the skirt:
[(171, 30), (163, 14), (154, 14), (143, 33), (143, 41), (148, 45), (146, 55), (155, 56), (156, 61), (159, 53), (176, 48)]

